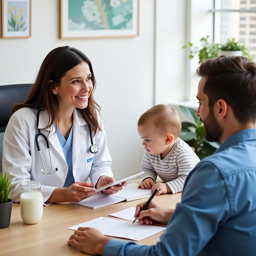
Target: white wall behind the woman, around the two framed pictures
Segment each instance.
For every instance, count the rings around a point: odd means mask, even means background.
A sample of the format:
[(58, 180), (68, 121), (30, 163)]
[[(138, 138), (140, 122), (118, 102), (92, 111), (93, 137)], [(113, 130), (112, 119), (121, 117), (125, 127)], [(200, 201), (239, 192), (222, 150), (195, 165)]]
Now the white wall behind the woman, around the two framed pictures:
[(32, 83), (44, 57), (56, 47), (83, 51), (95, 72), (95, 98), (102, 106), (114, 175), (135, 174), (144, 152), (136, 123), (153, 105), (154, 1), (140, 1), (140, 36), (129, 39), (60, 40), (58, 13), (58, 1), (33, 1), (32, 37), (0, 38), (0, 85)]

